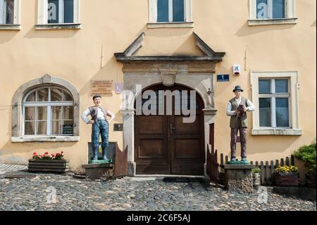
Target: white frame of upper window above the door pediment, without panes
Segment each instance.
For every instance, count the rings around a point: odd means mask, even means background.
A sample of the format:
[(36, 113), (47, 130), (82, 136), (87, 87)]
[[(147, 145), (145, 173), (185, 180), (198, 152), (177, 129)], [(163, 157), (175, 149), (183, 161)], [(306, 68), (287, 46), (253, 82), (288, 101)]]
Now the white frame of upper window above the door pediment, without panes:
[(149, 0), (149, 23), (148, 28), (184, 28), (193, 27), (192, 22), (192, 0), (184, 0), (184, 22), (173, 22), (173, 0), (168, 0), (168, 22), (157, 22), (157, 0)]

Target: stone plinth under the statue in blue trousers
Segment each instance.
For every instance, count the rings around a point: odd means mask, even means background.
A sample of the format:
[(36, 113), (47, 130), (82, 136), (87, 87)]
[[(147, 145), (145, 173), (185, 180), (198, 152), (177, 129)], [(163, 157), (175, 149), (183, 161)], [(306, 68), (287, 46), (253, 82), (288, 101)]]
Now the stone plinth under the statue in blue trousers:
[(82, 168), (85, 169), (85, 174), (89, 179), (100, 179), (102, 176), (113, 176), (113, 163), (104, 164), (82, 164)]

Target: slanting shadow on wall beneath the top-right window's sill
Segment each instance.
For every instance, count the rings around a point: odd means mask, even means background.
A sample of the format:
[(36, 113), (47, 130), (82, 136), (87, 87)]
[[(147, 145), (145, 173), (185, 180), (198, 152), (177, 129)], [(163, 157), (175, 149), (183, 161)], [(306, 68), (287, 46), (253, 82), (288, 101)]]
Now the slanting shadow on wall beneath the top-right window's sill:
[(246, 37), (249, 35), (256, 35), (262, 32), (272, 30), (290, 30), (296, 24), (277, 24), (277, 25), (255, 25), (249, 26), (248, 22), (244, 23), (242, 27), (235, 33), (237, 37)]

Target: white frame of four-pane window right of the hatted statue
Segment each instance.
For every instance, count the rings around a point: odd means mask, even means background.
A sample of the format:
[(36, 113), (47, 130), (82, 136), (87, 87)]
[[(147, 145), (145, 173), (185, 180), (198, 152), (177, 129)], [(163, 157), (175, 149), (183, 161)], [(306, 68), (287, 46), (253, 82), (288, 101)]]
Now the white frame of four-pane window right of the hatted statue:
[[(298, 72), (297, 71), (251, 71), (252, 102), (256, 110), (252, 116), (252, 135), (302, 135), (299, 129), (299, 107), (298, 107)], [(272, 79), (288, 79), (289, 93), (259, 94), (259, 79), (271, 80), (271, 92), (275, 92), (275, 83)], [(271, 126), (260, 127), (259, 97), (272, 97), (271, 102)], [(276, 128), (274, 97), (289, 97), (289, 128)]]

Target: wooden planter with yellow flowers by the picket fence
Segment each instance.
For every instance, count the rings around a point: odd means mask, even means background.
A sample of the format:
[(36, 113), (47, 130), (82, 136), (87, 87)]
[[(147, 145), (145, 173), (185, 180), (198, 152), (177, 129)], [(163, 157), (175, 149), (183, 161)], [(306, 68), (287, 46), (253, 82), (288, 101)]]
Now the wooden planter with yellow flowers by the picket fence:
[(297, 166), (278, 166), (274, 170), (273, 176), (277, 186), (298, 186), (299, 173)]

